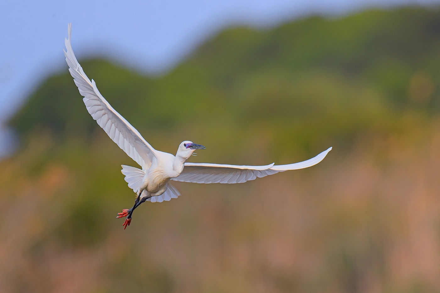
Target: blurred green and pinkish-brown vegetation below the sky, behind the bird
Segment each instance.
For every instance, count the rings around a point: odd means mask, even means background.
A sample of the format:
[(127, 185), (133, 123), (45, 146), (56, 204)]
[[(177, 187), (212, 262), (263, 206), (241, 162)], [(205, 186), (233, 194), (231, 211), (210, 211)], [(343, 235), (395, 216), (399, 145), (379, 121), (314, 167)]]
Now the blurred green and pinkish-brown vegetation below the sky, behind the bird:
[(207, 148), (193, 162), (243, 165), (333, 150), (247, 183), (174, 183), (180, 198), (123, 230), (119, 166), (136, 164), (64, 69), (9, 122), (1, 292), (439, 292), (440, 10), (238, 26), (161, 77), (80, 62), (158, 150), (190, 139)]

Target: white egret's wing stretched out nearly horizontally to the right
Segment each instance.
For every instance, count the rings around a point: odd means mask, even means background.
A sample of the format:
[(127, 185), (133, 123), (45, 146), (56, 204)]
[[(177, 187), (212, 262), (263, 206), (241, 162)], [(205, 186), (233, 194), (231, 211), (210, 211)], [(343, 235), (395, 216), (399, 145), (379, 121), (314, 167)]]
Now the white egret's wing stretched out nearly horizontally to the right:
[(243, 183), (287, 170), (307, 168), (318, 164), (326, 157), (331, 147), (307, 161), (289, 165), (236, 166), (205, 163), (185, 163), (182, 173), (171, 178), (192, 183)]

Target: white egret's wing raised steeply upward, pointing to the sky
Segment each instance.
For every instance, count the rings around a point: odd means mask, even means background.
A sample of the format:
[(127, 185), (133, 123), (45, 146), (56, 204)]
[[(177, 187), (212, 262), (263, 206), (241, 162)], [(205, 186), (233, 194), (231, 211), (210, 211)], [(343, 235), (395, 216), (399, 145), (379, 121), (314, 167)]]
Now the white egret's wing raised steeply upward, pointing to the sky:
[(155, 157), (153, 147), (140, 135), (124, 117), (117, 113), (112, 106), (104, 99), (96, 88), (95, 81), (90, 81), (85, 75), (81, 65), (73, 54), (70, 36), (72, 24), (69, 24), (69, 38), (65, 40), (67, 52), (66, 62), (69, 65), (69, 71), (75, 84), (84, 96), (84, 104), (88, 113), (92, 115), (99, 126), (110, 136), (110, 138), (136, 161), (143, 170), (150, 168), (151, 161)]

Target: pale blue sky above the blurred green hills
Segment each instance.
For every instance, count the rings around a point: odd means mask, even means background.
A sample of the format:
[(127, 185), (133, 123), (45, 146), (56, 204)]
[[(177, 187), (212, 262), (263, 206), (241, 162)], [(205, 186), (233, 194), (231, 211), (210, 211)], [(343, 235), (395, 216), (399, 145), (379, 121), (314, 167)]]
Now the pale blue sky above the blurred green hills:
[[(0, 1), (0, 125), (51, 73), (67, 70), (67, 23), (78, 59), (104, 56), (161, 74), (227, 27), (268, 27), (310, 14), (372, 7), (438, 5), (440, 0), (75, 0)], [(0, 156), (11, 137), (0, 127)]]

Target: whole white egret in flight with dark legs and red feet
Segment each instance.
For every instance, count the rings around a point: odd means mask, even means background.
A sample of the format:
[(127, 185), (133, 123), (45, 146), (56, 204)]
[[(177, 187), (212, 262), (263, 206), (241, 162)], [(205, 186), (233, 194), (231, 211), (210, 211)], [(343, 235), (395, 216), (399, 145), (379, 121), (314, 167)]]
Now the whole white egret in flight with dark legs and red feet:
[(73, 54), (70, 44), (72, 25), (68, 26), (69, 38), (65, 40), (66, 62), (79, 92), (84, 96), (84, 104), (99, 126), (110, 138), (128, 154), (142, 169), (121, 165), (122, 174), (128, 187), (136, 193), (136, 201), (131, 209), (123, 209), (117, 218), (126, 217), (124, 229), (130, 225), (133, 211), (143, 202), (169, 201), (180, 196), (169, 180), (193, 183), (243, 183), (257, 177), (264, 177), (287, 170), (307, 168), (318, 164), (331, 147), (307, 161), (265, 166), (238, 166), (207, 163), (185, 163), (194, 150), (205, 149), (191, 141), (180, 143), (176, 156), (155, 150), (140, 133), (117, 113), (96, 88), (95, 81), (90, 81)]

